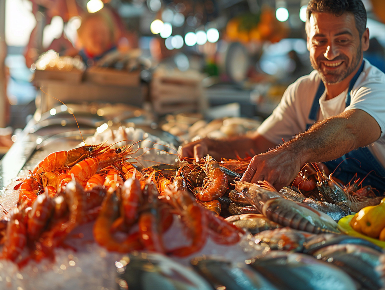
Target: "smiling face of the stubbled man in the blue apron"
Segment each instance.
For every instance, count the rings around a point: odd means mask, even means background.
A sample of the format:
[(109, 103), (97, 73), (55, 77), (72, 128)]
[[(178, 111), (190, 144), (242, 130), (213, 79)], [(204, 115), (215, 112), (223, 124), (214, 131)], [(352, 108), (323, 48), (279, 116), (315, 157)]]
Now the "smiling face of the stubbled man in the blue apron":
[(326, 84), (337, 84), (350, 76), (362, 59), (363, 50), (368, 49), (368, 42), (368, 29), (360, 38), (353, 13), (334, 16), (315, 12), (310, 16), (310, 62)]

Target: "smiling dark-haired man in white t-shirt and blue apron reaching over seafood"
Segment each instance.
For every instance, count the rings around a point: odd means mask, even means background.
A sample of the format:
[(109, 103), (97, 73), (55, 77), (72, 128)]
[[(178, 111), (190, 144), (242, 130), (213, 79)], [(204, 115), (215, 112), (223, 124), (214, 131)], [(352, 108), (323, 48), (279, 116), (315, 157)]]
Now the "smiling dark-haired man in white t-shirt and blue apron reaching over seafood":
[(382, 193), (385, 75), (363, 60), (369, 47), (366, 21), (361, 0), (311, 0), (306, 41), (315, 70), (286, 89), (253, 136), (226, 142), (204, 138), (184, 146), (181, 154), (231, 158), (262, 153), (251, 159), (241, 180), (268, 180), (278, 190), (306, 163), (331, 160), (326, 164), (337, 168), (334, 176), (347, 183), (355, 173), (361, 180), (370, 173), (364, 182)]

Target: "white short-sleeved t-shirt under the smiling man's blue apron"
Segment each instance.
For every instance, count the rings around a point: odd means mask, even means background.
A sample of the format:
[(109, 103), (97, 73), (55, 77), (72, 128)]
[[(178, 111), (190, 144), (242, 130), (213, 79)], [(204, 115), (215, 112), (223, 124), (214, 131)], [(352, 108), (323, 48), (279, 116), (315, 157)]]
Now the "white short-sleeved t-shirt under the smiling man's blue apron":
[[(295, 134), (304, 132), (306, 124), (313, 123), (309, 113), (320, 84), (318, 72), (313, 70), (289, 85), (280, 104), (258, 128), (259, 134), (279, 144), (289, 141)], [(326, 92), (320, 97), (318, 119), (335, 116), (350, 109), (360, 109), (372, 116), (381, 128), (380, 138), (368, 146), (372, 154), (385, 168), (385, 74), (365, 60), (362, 73), (350, 94), (350, 106), (345, 108), (348, 89), (330, 100)]]

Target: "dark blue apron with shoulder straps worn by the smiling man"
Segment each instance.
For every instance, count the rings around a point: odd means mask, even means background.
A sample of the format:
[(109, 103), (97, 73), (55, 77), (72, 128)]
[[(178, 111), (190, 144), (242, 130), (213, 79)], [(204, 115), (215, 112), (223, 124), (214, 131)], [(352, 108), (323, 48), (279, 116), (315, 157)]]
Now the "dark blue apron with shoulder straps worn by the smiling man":
[[(362, 62), (360, 69), (350, 81), (348, 94), (345, 99), (346, 107), (350, 105), (350, 92), (363, 70), (364, 62)], [(314, 122), (317, 120), (317, 112), (320, 109), (319, 99), (324, 91), (325, 85), (321, 81), (309, 114), (309, 119), (314, 120)], [(311, 125), (313, 124), (307, 124), (306, 127), (309, 128)], [(385, 191), (385, 169), (367, 147), (352, 150), (338, 159), (325, 162), (325, 164), (331, 171), (337, 168), (333, 176), (341, 179), (344, 183), (348, 183), (351, 179), (354, 181), (357, 178), (360, 178), (360, 181), (362, 181), (370, 172), (362, 182), (362, 185), (371, 185), (380, 193)], [(355, 174), (357, 174), (357, 177), (355, 177)]]

